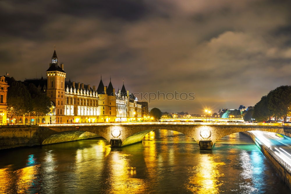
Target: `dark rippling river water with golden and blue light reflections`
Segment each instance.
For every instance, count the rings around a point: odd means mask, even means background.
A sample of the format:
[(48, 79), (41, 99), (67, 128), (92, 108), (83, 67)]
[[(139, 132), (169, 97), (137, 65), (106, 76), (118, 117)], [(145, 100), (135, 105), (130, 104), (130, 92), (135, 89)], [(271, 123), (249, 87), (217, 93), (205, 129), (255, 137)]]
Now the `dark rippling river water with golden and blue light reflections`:
[(156, 130), (110, 150), (105, 139), (0, 151), (0, 193), (290, 193), (246, 135), (212, 151), (182, 133)]

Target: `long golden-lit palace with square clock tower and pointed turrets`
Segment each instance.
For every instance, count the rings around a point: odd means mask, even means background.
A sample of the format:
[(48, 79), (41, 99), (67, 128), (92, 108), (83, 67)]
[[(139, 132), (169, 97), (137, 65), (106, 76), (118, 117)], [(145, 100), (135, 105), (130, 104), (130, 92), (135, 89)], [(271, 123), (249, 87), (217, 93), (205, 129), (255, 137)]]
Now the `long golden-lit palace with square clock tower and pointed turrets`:
[[(54, 50), (52, 62), (46, 71), (47, 78), (26, 79), (45, 92), (52, 101), (48, 115), (40, 116), (40, 123), (97, 123), (142, 120), (141, 104), (123, 87), (115, 92), (111, 79), (108, 87), (102, 77), (96, 89), (90, 84), (65, 81), (64, 64), (58, 63)], [(26, 121), (28, 123), (28, 121)]]

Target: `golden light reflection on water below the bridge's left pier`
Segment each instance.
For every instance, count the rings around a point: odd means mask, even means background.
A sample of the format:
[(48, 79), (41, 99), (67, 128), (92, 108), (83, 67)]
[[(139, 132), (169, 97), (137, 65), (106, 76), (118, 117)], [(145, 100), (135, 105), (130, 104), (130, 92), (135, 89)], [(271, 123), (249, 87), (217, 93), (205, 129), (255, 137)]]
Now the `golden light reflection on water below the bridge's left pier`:
[(129, 165), (128, 154), (113, 152), (110, 159), (109, 193), (144, 193), (147, 188), (143, 179), (136, 176), (136, 167)]

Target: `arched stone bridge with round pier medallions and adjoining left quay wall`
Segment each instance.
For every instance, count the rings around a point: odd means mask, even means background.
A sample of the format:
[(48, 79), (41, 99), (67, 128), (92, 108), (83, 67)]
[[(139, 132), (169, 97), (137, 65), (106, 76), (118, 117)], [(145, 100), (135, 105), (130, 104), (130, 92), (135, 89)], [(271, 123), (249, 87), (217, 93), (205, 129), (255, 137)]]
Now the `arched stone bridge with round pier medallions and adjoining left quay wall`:
[[(226, 135), (243, 131), (269, 131), (291, 137), (291, 126), (269, 125), (230, 125), (230, 124), (67, 124), (42, 126), (1, 126), (0, 149), (45, 145), (85, 139), (87, 137), (104, 137), (111, 147), (123, 147), (141, 142), (152, 130), (166, 129), (178, 131), (193, 138), (200, 149), (210, 150), (215, 142)], [(86, 133), (85, 133), (86, 132)]]

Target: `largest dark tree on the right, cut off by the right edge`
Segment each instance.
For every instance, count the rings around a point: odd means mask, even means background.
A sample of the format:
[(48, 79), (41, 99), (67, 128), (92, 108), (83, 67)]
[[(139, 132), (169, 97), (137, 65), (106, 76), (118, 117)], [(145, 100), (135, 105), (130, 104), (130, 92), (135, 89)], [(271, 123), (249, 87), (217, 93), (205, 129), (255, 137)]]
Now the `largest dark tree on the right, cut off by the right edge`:
[(275, 117), (284, 117), (287, 119), (287, 114), (290, 112), (291, 105), (291, 86), (280, 86), (272, 90), (268, 94), (268, 108)]

